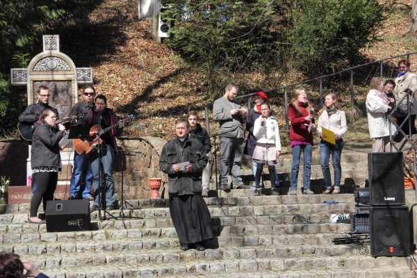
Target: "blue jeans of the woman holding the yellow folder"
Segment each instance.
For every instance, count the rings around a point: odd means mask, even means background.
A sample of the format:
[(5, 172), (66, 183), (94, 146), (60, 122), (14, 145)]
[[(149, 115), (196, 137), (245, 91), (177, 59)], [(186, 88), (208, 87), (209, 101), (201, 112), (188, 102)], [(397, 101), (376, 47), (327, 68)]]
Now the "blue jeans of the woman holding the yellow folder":
[(332, 177), (330, 176), (329, 158), (332, 153), (332, 165), (334, 170), (334, 188), (341, 188), (342, 167), (341, 155), (343, 139), (336, 140), (336, 145), (321, 140), (320, 142), (320, 163), (322, 166), (323, 179), (327, 189), (332, 189)]

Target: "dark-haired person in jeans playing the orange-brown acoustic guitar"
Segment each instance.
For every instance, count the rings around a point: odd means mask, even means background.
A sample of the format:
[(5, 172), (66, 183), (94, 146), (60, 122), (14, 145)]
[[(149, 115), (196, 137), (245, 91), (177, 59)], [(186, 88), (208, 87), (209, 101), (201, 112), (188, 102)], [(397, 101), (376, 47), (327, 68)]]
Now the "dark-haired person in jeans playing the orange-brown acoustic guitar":
[[(106, 184), (102, 185), (106, 194), (106, 203), (103, 204), (107, 210), (112, 210), (115, 204), (115, 188), (112, 172), (113, 154), (117, 150), (115, 137), (122, 135), (123, 121), (119, 121), (116, 115), (110, 108), (107, 108), (107, 99), (104, 95), (98, 95), (95, 99), (95, 108), (90, 111), (83, 119), (79, 120), (81, 124), (95, 124), (90, 130), (90, 140), (84, 140), (86, 146), (96, 145), (97, 150), (89, 150), (92, 174), (94, 175), (92, 186), (94, 188), (94, 203), (92, 204), (91, 211), (97, 210), (101, 200), (99, 199), (99, 174), (101, 171), (99, 167), (102, 166), (102, 172), (104, 173), (104, 179)], [(101, 132), (101, 129), (110, 128), (108, 132)], [(114, 128), (113, 128), (114, 127)], [(97, 136), (97, 133), (99, 136)], [(77, 144), (74, 139), (74, 147), (77, 149)], [(79, 140), (81, 141), (81, 140)], [(92, 141), (92, 143), (91, 143)], [(91, 148), (90, 148), (91, 149)], [(78, 150), (77, 150), (78, 152)], [(87, 154), (87, 152), (86, 152)], [(99, 165), (99, 157), (101, 158), (101, 165)]]

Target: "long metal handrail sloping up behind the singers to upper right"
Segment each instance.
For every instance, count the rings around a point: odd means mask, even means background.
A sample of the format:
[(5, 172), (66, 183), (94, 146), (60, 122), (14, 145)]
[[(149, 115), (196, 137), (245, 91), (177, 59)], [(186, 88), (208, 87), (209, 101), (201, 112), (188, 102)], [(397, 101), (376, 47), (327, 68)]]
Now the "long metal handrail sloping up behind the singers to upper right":
[[(316, 77), (316, 78), (313, 78), (313, 79), (300, 81), (298, 83), (293, 83), (293, 84), (290, 84), (290, 85), (283, 85), (283, 86), (273, 88), (273, 89), (270, 89), (270, 90), (264, 90), (263, 92), (274, 92), (274, 91), (277, 91), (277, 90), (284, 89), (284, 99), (285, 99), (285, 104), (284, 104), (285, 107), (284, 108), (285, 108), (285, 117), (286, 117), (286, 131), (289, 131), (290, 121), (288, 119), (288, 88), (291, 88), (291, 87), (294, 87), (294, 86), (297, 86), (297, 85), (301, 85), (301, 84), (305, 84), (305, 83), (309, 83), (309, 82), (312, 82), (312, 81), (320, 80), (320, 106), (323, 106), (322, 79), (329, 78), (331, 76), (335, 76), (335, 75), (338, 75), (338, 74), (343, 74), (344, 72), (350, 72), (350, 100), (351, 100), (351, 103), (354, 104), (354, 90), (353, 90), (354, 89), (354, 74), (353, 74), (354, 70), (356, 70), (360, 67), (365, 67), (367, 65), (373, 65), (375, 63), (379, 63), (380, 64), (379, 65), (379, 67), (380, 67), (379, 74), (381, 76), (384, 76), (384, 68), (383, 68), (382, 62), (384, 62), (386, 60), (392, 60), (392, 59), (395, 59), (395, 58), (404, 57), (404, 56), (407, 56), (407, 60), (409, 60), (410, 55), (413, 55), (413, 54), (417, 54), (417, 51), (409, 52), (409, 53), (406, 53), (406, 54), (401, 54), (401, 55), (398, 55), (398, 56), (393, 56), (393, 57), (390, 57), (390, 58), (384, 58), (384, 59), (381, 59), (381, 60), (375, 60), (373, 62), (369, 62), (369, 63), (365, 63), (365, 64), (362, 64), (362, 65), (357, 65), (357, 66), (354, 66), (354, 67), (350, 67), (350, 68), (348, 68), (346, 70), (342, 70), (340, 72), (335, 72), (333, 74), (327, 74), (327, 75), (319, 76), (319, 77)], [(250, 108), (250, 97), (252, 97), (252, 95), (254, 95), (255, 93), (256, 92), (253, 92), (253, 93), (250, 93), (250, 94), (247, 94), (247, 95), (243, 95), (243, 96), (240, 96), (240, 97), (236, 97), (236, 99), (241, 99), (243, 97), (247, 97), (247, 107)], [(204, 114), (205, 114), (205, 117), (206, 117), (206, 129), (207, 129), (208, 134), (210, 134), (210, 125), (209, 125), (209, 120), (208, 120), (208, 106), (212, 106), (212, 105), (213, 105), (213, 102), (208, 103), (208, 104), (205, 105), (205, 108), (204, 108)]]

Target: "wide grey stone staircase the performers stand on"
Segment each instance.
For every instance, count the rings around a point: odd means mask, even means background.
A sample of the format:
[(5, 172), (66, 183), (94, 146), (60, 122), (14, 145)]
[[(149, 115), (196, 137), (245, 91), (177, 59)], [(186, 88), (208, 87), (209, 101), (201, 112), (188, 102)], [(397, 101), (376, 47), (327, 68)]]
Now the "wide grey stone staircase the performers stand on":
[[(74, 232), (47, 232), (45, 224), (28, 224), (28, 204), (3, 205), (1, 249), (33, 259), (39, 270), (59, 278), (414, 277), (409, 257), (373, 258), (353, 246), (332, 243), (350, 230), (350, 224), (331, 222), (331, 215), (354, 211), (351, 192), (367, 176), (367, 169), (361, 168), (366, 161), (363, 155), (344, 154), (343, 177), (353, 181), (343, 185), (345, 194), (300, 191), (295, 196), (271, 196), (265, 188), (259, 197), (252, 197), (253, 190), (247, 189), (206, 198), (215, 238), (206, 241), (204, 252), (179, 250), (167, 199), (125, 199), (124, 220), (119, 218), (120, 210), (110, 212), (119, 219), (106, 215), (102, 221), (95, 211), (91, 230)], [(280, 177), (286, 177), (288, 167), (291, 163), (284, 160)], [(252, 171), (245, 171), (247, 183), (252, 183)], [(354, 176), (355, 171), (361, 175)], [(321, 170), (315, 172), (312, 184), (318, 193)], [(288, 181), (283, 179), (281, 193), (286, 191)], [(214, 187), (210, 195), (217, 195)]]

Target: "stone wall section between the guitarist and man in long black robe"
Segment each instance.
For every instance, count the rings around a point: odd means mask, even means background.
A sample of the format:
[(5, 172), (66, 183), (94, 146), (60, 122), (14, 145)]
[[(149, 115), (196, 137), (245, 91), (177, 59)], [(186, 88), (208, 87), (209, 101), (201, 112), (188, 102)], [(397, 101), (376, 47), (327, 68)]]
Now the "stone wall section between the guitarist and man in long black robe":
[[(158, 137), (119, 138), (117, 145), (124, 151), (113, 161), (116, 199), (150, 199), (151, 188), (148, 178), (161, 178), (159, 195), (167, 198), (167, 175), (159, 171), (159, 156), (167, 141)], [(138, 153), (141, 152), (141, 153)]]

